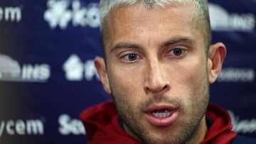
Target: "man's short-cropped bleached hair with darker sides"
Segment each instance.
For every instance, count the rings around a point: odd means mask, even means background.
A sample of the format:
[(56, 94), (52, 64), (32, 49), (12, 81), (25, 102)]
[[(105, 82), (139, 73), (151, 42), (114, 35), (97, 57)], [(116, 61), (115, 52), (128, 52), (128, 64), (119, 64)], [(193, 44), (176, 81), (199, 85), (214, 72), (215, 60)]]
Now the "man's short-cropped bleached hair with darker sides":
[(166, 4), (171, 4), (174, 2), (186, 3), (189, 1), (193, 1), (193, 4), (195, 4), (197, 8), (196, 18), (198, 21), (203, 22), (203, 33), (206, 37), (206, 47), (208, 47), (211, 41), (208, 0), (100, 0), (100, 31), (103, 35), (107, 24), (107, 16), (110, 11), (116, 7), (142, 3), (147, 9), (150, 10), (154, 6), (164, 7)]

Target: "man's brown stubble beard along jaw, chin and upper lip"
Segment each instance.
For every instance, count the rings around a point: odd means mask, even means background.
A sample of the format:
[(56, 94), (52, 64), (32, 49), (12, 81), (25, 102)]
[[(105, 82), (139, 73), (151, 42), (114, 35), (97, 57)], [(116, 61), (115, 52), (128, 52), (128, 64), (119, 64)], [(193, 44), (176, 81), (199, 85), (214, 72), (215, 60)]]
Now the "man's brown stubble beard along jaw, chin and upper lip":
[[(112, 89), (112, 87), (110, 88)], [(145, 144), (183, 144), (188, 143), (191, 140), (191, 138), (197, 134), (196, 132), (198, 131), (198, 126), (200, 125), (203, 116), (205, 116), (209, 102), (208, 77), (206, 83), (203, 85), (203, 88), (199, 86), (198, 89), (200, 90), (194, 91), (191, 96), (194, 96), (192, 99), (192, 113), (188, 113), (186, 112), (186, 110), (184, 110), (188, 108), (185, 108), (181, 101), (178, 101), (176, 99), (169, 100), (166, 97), (163, 98), (163, 102), (167, 104), (172, 104), (173, 106), (177, 106), (181, 108), (181, 111), (183, 113), (186, 113), (186, 115), (191, 116), (190, 118), (188, 117), (188, 121), (182, 120), (183, 123), (179, 128), (179, 133), (177, 133), (176, 135), (168, 135), (165, 138), (154, 137), (153, 135), (151, 135), (151, 131), (148, 131), (146, 128), (144, 128), (143, 123), (140, 123), (142, 116), (144, 116), (142, 110), (148, 108), (148, 106), (150, 106), (151, 104), (155, 104), (155, 99), (150, 99), (149, 101), (146, 101), (143, 104), (138, 104), (137, 106), (134, 106), (134, 104), (130, 104), (129, 98), (127, 99), (127, 96), (119, 96), (119, 98), (121, 99), (116, 99), (117, 97), (114, 96), (114, 91), (111, 92), (113, 92), (112, 98), (114, 100), (114, 106), (117, 109), (117, 113), (119, 114), (119, 117), (122, 119), (125, 128), (127, 128), (126, 132), (128, 132), (130, 135), (132, 133), (132, 135), (134, 135), (137, 140)]]

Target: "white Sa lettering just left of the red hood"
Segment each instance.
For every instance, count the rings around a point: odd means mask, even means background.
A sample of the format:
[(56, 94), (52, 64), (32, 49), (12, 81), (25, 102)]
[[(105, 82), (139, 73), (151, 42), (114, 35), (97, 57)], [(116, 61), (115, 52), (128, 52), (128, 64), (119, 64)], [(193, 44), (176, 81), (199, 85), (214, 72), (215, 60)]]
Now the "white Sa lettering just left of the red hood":
[(71, 119), (68, 114), (61, 114), (58, 118), (60, 127), (58, 131), (62, 135), (85, 135), (85, 128), (82, 121), (78, 119)]

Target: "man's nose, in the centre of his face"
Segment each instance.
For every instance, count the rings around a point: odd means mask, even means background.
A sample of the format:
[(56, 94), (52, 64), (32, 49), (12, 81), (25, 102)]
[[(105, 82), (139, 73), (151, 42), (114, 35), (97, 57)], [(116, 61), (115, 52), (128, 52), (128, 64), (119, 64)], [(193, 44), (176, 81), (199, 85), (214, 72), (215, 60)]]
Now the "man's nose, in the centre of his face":
[(154, 96), (162, 96), (165, 92), (169, 91), (170, 84), (166, 79), (166, 70), (164, 64), (158, 60), (151, 60), (145, 72), (145, 87), (146, 94), (153, 94)]

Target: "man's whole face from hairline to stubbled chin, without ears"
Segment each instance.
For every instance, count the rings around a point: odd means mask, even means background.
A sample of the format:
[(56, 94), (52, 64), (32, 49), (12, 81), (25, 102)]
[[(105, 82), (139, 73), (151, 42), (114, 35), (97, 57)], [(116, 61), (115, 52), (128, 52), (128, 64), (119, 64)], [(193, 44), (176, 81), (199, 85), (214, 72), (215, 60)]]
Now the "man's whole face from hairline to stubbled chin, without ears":
[(205, 124), (208, 70), (193, 4), (114, 9), (107, 77), (124, 128), (144, 143), (184, 143)]

